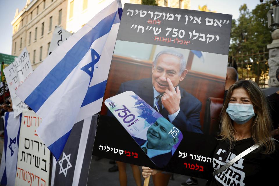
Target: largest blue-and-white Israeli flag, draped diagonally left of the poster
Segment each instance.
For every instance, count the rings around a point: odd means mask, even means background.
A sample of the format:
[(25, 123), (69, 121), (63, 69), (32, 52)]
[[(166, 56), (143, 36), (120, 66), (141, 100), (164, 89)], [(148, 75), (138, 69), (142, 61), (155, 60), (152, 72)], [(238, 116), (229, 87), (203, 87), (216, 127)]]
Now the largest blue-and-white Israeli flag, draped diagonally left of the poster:
[(121, 14), (121, 1), (113, 1), (57, 47), (16, 92), (42, 118), (37, 133), (56, 160), (74, 124), (101, 110)]

